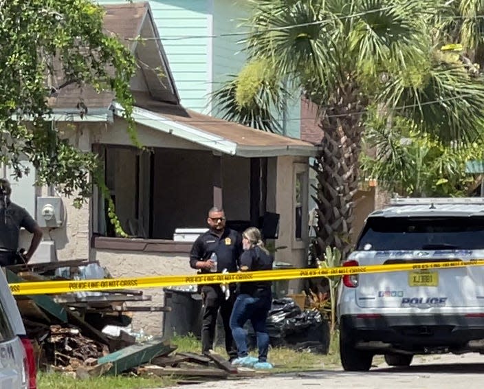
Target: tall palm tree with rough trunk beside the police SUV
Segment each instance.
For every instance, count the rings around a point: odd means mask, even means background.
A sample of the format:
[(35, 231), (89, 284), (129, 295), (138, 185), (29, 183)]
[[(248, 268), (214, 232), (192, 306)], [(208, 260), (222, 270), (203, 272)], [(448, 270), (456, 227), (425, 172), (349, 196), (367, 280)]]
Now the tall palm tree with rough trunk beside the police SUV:
[[(225, 118), (271, 129), (288, 90), (318, 106), (318, 252), (351, 246), (366, 113), (401, 115), (445, 142), (480, 135), (484, 84), (439, 51), (441, 0), (250, 0), (248, 64), (214, 94)], [(438, 25), (437, 23), (440, 23)], [(439, 27), (436, 27), (436, 26)], [(249, 71), (249, 70), (250, 71)], [(282, 87), (284, 86), (284, 87)]]

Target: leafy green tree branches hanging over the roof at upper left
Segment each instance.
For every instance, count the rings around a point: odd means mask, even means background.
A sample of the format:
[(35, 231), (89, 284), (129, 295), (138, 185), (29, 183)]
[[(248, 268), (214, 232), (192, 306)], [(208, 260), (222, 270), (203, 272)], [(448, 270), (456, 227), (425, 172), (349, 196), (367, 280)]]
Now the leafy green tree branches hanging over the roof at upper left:
[[(0, 0), (0, 162), (15, 176), (36, 168), (38, 185), (56, 186), (81, 205), (99, 184), (100, 161), (80, 151), (52, 120), (50, 102), (66, 87), (113, 91), (124, 107), (134, 144), (129, 49), (102, 27), (103, 11), (90, 0)], [(85, 115), (85, 104), (77, 107)]]

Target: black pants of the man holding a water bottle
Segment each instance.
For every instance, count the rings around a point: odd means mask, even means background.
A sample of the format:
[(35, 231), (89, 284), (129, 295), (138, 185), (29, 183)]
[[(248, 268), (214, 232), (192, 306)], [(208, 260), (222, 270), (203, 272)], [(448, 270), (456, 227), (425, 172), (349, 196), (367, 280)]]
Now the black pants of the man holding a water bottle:
[(230, 330), (230, 315), (234, 307), (234, 292), (230, 293), (230, 298), (225, 300), (222, 289), (219, 285), (203, 285), (201, 287), (203, 297), (203, 319), (201, 322), (201, 351), (208, 353), (213, 348), (215, 337), (215, 326), (217, 325), (217, 315), (220, 309), (220, 316), (225, 330), (225, 350), (230, 359), (237, 357), (232, 331)]

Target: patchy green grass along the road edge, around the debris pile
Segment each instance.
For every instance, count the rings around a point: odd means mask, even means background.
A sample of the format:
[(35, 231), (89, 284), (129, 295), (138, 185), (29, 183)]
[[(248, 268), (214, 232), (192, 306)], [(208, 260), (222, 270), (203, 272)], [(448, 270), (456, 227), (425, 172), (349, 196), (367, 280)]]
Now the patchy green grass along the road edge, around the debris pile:
[[(195, 336), (175, 336), (171, 342), (177, 346), (177, 352), (199, 353), (200, 341)], [(215, 351), (225, 356), (223, 348)], [(252, 353), (256, 356), (256, 354)], [(340, 366), (338, 353), (338, 334), (331, 342), (328, 355), (313, 354), (305, 351), (294, 351), (289, 348), (271, 348), (269, 361), (274, 364), (273, 373), (291, 373), (301, 370), (321, 370)], [(39, 373), (38, 389), (154, 389), (174, 385), (175, 381), (159, 377), (135, 377), (120, 375), (118, 377), (98, 377), (79, 380), (59, 373)]]

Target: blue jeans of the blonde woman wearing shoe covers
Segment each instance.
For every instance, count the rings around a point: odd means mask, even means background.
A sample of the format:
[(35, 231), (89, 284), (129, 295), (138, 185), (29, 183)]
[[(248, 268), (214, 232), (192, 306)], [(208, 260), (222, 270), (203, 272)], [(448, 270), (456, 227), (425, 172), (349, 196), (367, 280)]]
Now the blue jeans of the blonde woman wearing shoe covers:
[(259, 348), (259, 362), (267, 361), (267, 352), (269, 351), (269, 333), (265, 321), (267, 313), (270, 311), (272, 303), (272, 294), (270, 291), (264, 291), (259, 297), (252, 297), (248, 294), (237, 296), (230, 315), (230, 329), (237, 345), (237, 355), (246, 357), (248, 353), (247, 339), (243, 326), (250, 320), (252, 327), (257, 336), (257, 348)]

